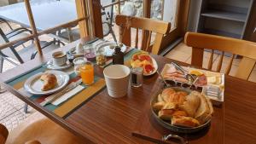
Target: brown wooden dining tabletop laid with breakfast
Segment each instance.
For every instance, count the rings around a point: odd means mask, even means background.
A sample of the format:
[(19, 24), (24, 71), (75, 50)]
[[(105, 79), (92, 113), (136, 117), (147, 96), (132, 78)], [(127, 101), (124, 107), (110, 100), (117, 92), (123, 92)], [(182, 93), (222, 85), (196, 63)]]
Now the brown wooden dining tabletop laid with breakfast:
[[(84, 37), (85, 41), (90, 41), (92, 37)], [(75, 47), (80, 40), (69, 43), (60, 49), (67, 51)], [(56, 50), (60, 50), (56, 49)], [(160, 55), (151, 55), (157, 61), (158, 70), (172, 61)], [(102, 89), (90, 101), (86, 101), (70, 115), (65, 118), (56, 116), (38, 103), (31, 101), (10, 85), (4, 83), (11, 78), (15, 78), (25, 72), (40, 66), (51, 58), (51, 52), (38, 56), (34, 60), (27, 61), (20, 66), (0, 73), (0, 81), (6, 89), (13, 95), (25, 101), (28, 105), (43, 113), (46, 117), (60, 124), (74, 135), (84, 139), (85, 143), (154, 143), (132, 135), (134, 130), (140, 126), (137, 124), (142, 117), (145, 107), (149, 105), (149, 100), (154, 93), (155, 87), (160, 84), (160, 77), (157, 73), (150, 77), (143, 78), (143, 86), (140, 88), (130, 88), (128, 94), (122, 98), (112, 98), (108, 95), (107, 88)], [(178, 61), (176, 61), (178, 62)], [(178, 62), (180, 65), (189, 64)], [(103, 68), (95, 66), (97, 76), (103, 78)], [(255, 144), (256, 143), (256, 84), (225, 75), (224, 78), (224, 102), (221, 107), (214, 107), (214, 110), (222, 111), (223, 116), (217, 121), (212, 121), (210, 130), (206, 135), (189, 143), (219, 143), (227, 144)], [(214, 116), (213, 116), (214, 117)], [(218, 123), (221, 130), (216, 130)], [(215, 129), (215, 130), (214, 130)], [(220, 132), (216, 132), (220, 131)], [(154, 131), (152, 131), (154, 133)], [(209, 141), (209, 140), (212, 140)]]

